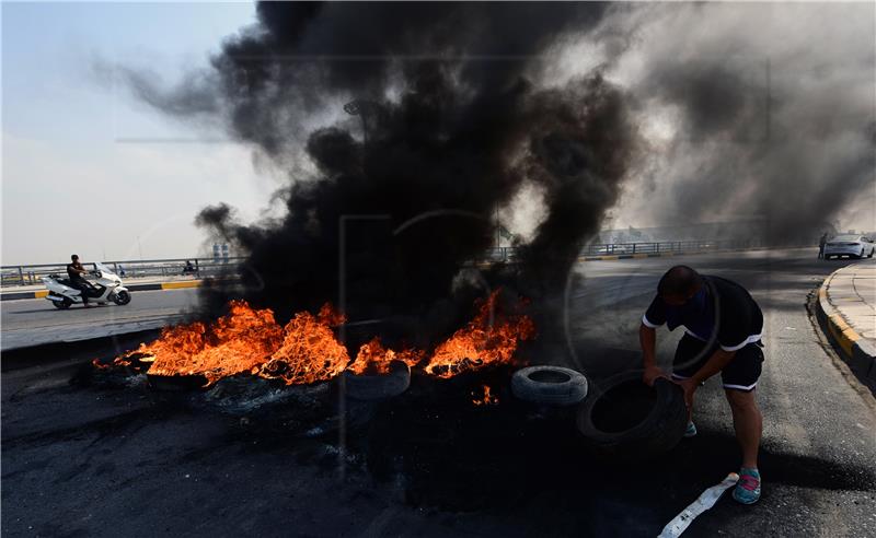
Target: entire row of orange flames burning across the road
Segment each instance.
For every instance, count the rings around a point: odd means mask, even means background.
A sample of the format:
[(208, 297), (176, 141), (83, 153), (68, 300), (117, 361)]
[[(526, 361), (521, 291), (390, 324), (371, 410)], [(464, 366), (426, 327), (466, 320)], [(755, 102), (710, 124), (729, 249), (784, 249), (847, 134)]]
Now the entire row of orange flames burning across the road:
[[(492, 364), (510, 363), (520, 340), (532, 338), (532, 320), (525, 315), (496, 313), (499, 291), (476, 304), (477, 313), (465, 327), (442, 342), (428, 360), (425, 372), (452, 377)], [(151, 343), (99, 369), (135, 366), (151, 375), (200, 375), (207, 386), (238, 374), (281, 379), (287, 385), (328, 381), (344, 370), (355, 374), (388, 374), (393, 361), (411, 367), (424, 362), (425, 350), (385, 348), (379, 338), (362, 344), (350, 362), (334, 327), (345, 316), (325, 304), (319, 314), (300, 312), (280, 327), (269, 308), (253, 308), (231, 301), (229, 313), (212, 324), (195, 321), (165, 327)]]

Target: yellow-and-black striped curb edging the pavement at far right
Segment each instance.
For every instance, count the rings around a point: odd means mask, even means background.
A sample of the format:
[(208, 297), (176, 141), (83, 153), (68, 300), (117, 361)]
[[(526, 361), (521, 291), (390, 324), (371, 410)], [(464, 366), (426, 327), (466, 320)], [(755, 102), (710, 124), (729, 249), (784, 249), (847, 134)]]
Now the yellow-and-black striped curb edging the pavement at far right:
[(828, 301), (827, 290), (830, 281), (842, 269), (844, 268), (830, 273), (818, 289), (816, 317), (828, 339), (842, 351), (842, 358), (852, 372), (874, 385), (876, 384), (876, 347), (850, 327), (840, 312)]

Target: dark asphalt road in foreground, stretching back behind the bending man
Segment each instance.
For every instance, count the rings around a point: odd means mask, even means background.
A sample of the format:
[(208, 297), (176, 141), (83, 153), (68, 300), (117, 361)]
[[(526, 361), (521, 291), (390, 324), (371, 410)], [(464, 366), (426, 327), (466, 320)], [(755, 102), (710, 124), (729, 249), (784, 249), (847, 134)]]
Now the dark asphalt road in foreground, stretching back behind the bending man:
[[(725, 496), (684, 536), (876, 536), (876, 405), (806, 311), (807, 294), (846, 261), (814, 258), (581, 264), (567, 337), (530, 356), (598, 384), (638, 367), (638, 320), (669, 265), (749, 288), (765, 315), (763, 496), (748, 507)], [(662, 360), (679, 336), (659, 332)], [(507, 388), (483, 408), (468, 387), (417, 378), (397, 400), (350, 404), (338, 428), (325, 419), (338, 412), (331, 387), (157, 394), (139, 377), (83, 377), (76, 364), (90, 358), (2, 376), (4, 535), (655, 536), (738, 467), (718, 379), (698, 390), (696, 437), (658, 460), (612, 466), (578, 452), (568, 416), (521, 409)]]

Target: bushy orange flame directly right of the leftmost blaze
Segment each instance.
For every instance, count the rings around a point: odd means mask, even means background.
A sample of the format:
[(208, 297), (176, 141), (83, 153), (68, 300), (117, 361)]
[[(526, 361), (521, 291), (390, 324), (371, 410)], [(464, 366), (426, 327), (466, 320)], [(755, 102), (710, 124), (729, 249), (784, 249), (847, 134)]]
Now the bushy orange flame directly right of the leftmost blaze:
[(345, 320), (330, 304), (323, 305), (318, 316), (299, 312), (283, 329), (283, 346), (255, 373), (287, 385), (331, 379), (349, 362), (347, 349), (332, 331), (332, 326)]

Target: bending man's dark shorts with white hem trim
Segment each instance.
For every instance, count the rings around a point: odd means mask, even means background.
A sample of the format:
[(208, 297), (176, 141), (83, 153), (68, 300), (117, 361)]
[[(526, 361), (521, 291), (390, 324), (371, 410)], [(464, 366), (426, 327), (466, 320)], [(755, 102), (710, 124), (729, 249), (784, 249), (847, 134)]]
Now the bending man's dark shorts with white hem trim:
[[(721, 371), (721, 381), (724, 383), (724, 388), (749, 393), (758, 386), (761, 363), (763, 362), (763, 350), (759, 343), (749, 343), (736, 351), (729, 364)], [(672, 377), (676, 379), (692, 377), (708, 361), (708, 358), (712, 356), (716, 349), (717, 343), (708, 347), (707, 342), (685, 334), (676, 349), (676, 359), (672, 361)]]

